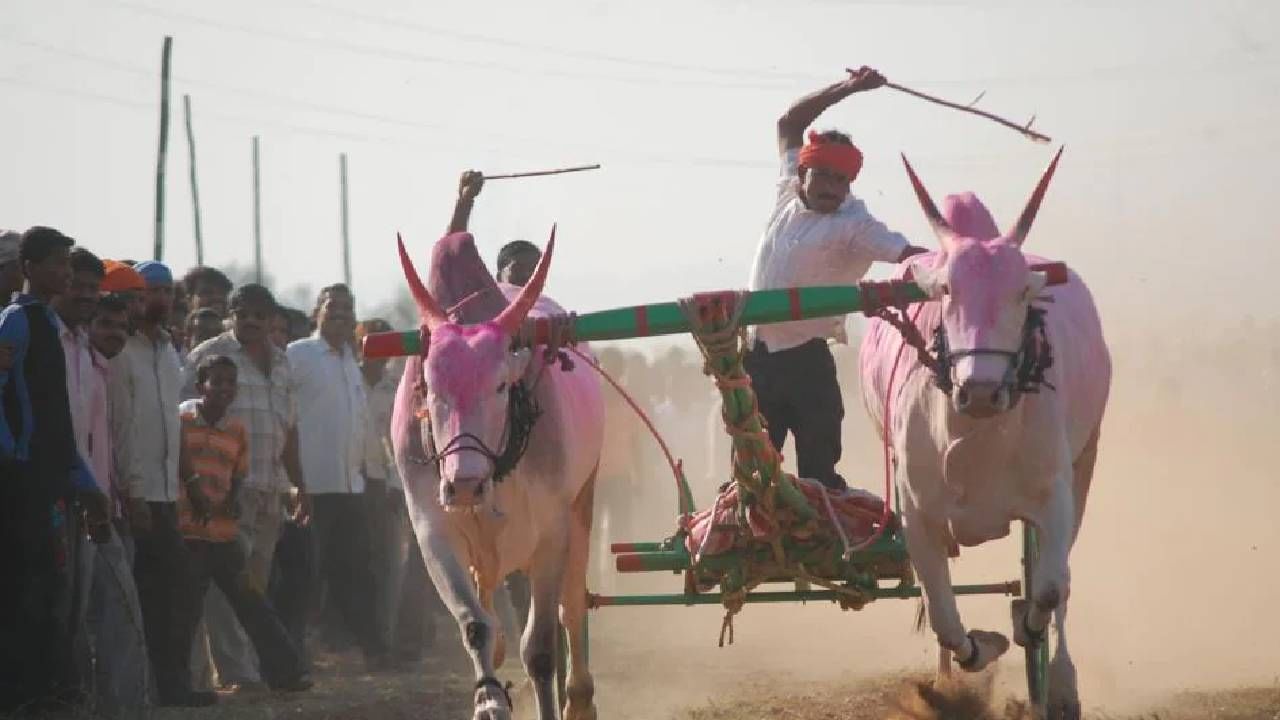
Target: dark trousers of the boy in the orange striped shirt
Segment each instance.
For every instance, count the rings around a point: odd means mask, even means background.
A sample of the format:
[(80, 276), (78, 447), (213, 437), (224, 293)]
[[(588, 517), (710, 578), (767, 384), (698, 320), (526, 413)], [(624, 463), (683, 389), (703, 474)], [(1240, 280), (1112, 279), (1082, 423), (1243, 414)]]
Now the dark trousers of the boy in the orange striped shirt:
[[(218, 583), (218, 589), (227, 596), (236, 619), (253, 643), (266, 684), (287, 684), (301, 676), (302, 659), (275, 610), (266, 602), (266, 596), (253, 585), (246, 568), (244, 548), (236, 541), (188, 539), (187, 551), (191, 553), (191, 592), (202, 598), (209, 592), (210, 579)], [(202, 610), (204, 605), (198, 605), (183, 624), (188, 647), (196, 638)]]

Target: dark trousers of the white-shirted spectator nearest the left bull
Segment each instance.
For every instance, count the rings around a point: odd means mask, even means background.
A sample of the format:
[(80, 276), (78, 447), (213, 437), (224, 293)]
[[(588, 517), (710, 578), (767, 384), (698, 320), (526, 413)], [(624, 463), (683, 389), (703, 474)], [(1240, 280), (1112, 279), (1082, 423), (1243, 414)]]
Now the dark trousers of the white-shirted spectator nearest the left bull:
[(334, 603), (347, 630), (356, 635), (366, 657), (387, 655), (378, 632), (374, 571), (369, 548), (367, 507), (362, 495), (311, 496), (311, 534), (316, 569), (325, 584), (326, 602)]

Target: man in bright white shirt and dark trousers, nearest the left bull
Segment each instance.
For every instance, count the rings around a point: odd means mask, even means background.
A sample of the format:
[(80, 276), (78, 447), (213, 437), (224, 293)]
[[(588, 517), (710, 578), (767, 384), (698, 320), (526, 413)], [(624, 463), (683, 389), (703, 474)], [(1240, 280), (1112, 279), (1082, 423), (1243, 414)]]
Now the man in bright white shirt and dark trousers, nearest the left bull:
[(356, 300), (344, 284), (320, 291), (316, 333), (289, 343), (298, 448), (311, 495), (316, 566), (326, 597), (365, 651), (370, 669), (388, 664), (378, 632), (370, 534), (365, 505), (365, 433), (369, 407), (356, 365)]

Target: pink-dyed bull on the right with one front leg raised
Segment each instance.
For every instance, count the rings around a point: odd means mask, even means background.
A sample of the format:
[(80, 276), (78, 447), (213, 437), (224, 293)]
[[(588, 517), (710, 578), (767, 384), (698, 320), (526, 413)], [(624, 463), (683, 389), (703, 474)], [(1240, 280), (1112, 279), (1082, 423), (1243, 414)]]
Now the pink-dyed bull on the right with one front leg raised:
[(1046, 287), (1029, 266), (1042, 260), (1023, 254), (1059, 156), (1004, 236), (972, 193), (948, 196), (940, 213), (906, 164), (942, 246), (914, 259), (909, 270), (934, 299), (913, 313), (920, 333), (937, 338), (941, 361), (925, 368), (892, 325), (872, 320), (860, 365), (877, 429), (890, 411), (884, 439), (902, 488), (911, 562), (942, 647), (940, 671), (950, 671), (951, 655), (963, 669), (979, 670), (1009, 647), (998, 633), (965, 629), (947, 557), (1027, 520), (1039, 530), (1041, 556), (1029, 602), (1014, 603), (1014, 639), (1044, 642), (1055, 619), (1050, 714), (1078, 717), (1065, 635), (1068, 555), (1093, 477), (1111, 360), (1080, 278), (1071, 273), (1065, 284)]

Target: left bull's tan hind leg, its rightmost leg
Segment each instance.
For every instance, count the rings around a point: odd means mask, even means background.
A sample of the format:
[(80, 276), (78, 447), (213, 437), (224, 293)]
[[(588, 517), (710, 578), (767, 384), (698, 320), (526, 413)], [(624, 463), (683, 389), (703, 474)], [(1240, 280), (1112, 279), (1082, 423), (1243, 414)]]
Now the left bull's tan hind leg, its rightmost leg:
[(564, 720), (595, 720), (595, 680), (588, 666), (586, 566), (591, 547), (591, 502), (595, 473), (573, 501), (568, 537), (568, 562), (561, 592), (561, 624), (568, 634), (568, 682)]

